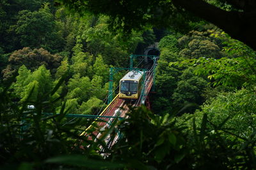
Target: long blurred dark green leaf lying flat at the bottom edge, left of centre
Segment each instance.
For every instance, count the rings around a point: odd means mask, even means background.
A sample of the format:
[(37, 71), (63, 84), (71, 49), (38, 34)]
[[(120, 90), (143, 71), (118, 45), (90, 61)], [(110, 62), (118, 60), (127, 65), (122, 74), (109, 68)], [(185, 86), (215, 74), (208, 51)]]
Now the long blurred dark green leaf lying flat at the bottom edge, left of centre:
[(121, 168), (124, 164), (118, 162), (107, 162), (106, 160), (93, 160), (83, 155), (64, 155), (45, 160), (45, 163), (65, 164), (70, 166), (81, 166), (93, 169)]

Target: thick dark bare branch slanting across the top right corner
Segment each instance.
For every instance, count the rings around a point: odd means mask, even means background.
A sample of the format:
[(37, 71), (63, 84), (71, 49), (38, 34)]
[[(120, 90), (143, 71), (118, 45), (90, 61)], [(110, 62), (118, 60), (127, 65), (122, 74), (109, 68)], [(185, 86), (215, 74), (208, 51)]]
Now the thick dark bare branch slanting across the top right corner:
[(256, 13), (225, 11), (202, 0), (173, 0), (177, 8), (184, 8), (198, 17), (220, 27), (232, 38), (243, 41), (256, 50)]

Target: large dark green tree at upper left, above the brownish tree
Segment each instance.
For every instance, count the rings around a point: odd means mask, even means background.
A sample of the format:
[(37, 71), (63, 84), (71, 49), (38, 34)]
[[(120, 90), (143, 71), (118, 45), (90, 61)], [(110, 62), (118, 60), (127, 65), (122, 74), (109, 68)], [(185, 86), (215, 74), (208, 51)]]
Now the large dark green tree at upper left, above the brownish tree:
[(38, 11), (23, 10), (15, 31), (20, 35), (20, 44), (31, 48), (43, 47), (51, 52), (62, 50), (65, 41), (52, 15), (49, 4)]

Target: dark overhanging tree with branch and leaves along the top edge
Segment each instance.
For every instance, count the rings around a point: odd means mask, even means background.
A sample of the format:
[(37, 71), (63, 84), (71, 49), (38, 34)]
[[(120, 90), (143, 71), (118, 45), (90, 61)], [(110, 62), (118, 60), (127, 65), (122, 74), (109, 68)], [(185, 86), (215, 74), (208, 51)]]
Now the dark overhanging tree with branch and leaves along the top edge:
[[(60, 0), (73, 11), (85, 13), (91, 11), (95, 14), (111, 16), (111, 24), (115, 29), (131, 30), (150, 25), (168, 26), (170, 23), (180, 22), (188, 17), (186, 12), (195, 14), (217, 25), (232, 38), (243, 41), (256, 49), (255, 1), (212, 1), (204, 0), (173, 0), (173, 1), (65, 1)], [(100, 5), (99, 5), (100, 4)], [(230, 8), (225, 8), (229, 5)], [(184, 10), (183, 10), (184, 9)], [(183, 23), (183, 22), (182, 22)], [(176, 24), (177, 25), (177, 24)]]

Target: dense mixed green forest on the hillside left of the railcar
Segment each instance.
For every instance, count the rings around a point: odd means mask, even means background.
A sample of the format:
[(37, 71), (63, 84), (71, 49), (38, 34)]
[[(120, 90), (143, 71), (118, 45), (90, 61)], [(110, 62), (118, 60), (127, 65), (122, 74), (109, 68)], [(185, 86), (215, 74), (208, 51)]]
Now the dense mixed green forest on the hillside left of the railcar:
[[(108, 31), (106, 16), (72, 17), (64, 8), (45, 1), (31, 1), (28, 5), (34, 3), (39, 5), (33, 10), (25, 8), (22, 1), (4, 4), (3, 13), (15, 17), (6, 29), (15, 33), (19, 43), (1, 39), (1, 80), (8, 81), (19, 74), (11, 88), (15, 98), (24, 101), (34, 88), (30, 100), (36, 101), (68, 72), (58, 90), (58, 96), (65, 97), (56, 103), (55, 111), (60, 111), (61, 103), (66, 101), (70, 113), (96, 114), (108, 94), (109, 66), (128, 66), (128, 58), (124, 56), (134, 52), (139, 42), (143, 43), (143, 36), (134, 32), (124, 41), (120, 35)], [(22, 7), (7, 11), (7, 6), (18, 4)], [(10, 32), (3, 34), (4, 38), (12, 36)], [(89, 99), (95, 101), (93, 106)]]

